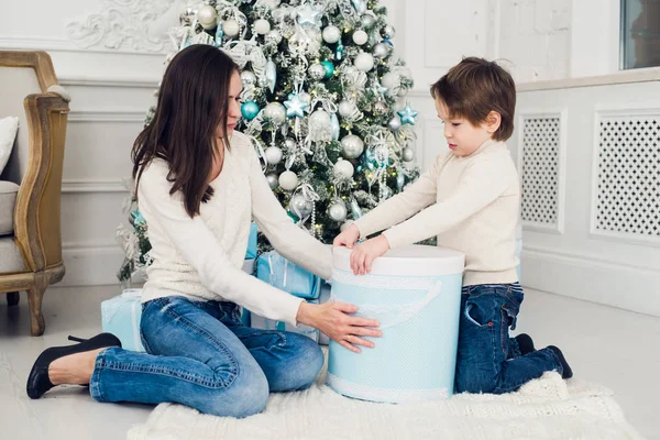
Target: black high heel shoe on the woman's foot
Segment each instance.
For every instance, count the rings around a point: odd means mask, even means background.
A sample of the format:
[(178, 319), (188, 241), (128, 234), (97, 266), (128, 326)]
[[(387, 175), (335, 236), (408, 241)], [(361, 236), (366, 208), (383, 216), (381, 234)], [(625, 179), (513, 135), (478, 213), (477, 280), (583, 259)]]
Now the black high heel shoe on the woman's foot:
[(100, 333), (90, 339), (80, 339), (75, 337), (68, 337), (68, 339), (69, 341), (76, 341), (79, 343), (75, 345), (52, 346), (46, 349), (34, 362), (32, 371), (28, 376), (26, 389), (30, 398), (40, 398), (45, 392), (55, 386), (48, 377), (48, 367), (53, 361), (74, 353), (82, 353), (86, 351), (105, 349), (108, 346), (121, 348), (121, 341), (112, 333)]

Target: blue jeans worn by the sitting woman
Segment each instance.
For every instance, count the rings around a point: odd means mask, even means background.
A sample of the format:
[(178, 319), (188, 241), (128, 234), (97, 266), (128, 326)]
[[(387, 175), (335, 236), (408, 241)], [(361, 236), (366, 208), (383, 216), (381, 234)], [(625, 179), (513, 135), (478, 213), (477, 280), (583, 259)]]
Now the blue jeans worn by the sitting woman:
[(309, 387), (323, 365), (311, 339), (245, 327), (233, 302), (153, 299), (142, 306), (141, 337), (146, 353), (99, 353), (89, 384), (95, 399), (248, 417), (265, 408), (270, 392)]

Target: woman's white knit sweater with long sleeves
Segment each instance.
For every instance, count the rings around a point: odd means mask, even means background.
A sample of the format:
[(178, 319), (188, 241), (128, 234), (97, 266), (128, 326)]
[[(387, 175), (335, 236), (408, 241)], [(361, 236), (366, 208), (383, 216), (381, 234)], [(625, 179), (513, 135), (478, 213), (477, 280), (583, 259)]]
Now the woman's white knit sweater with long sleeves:
[(296, 324), (300, 299), (241, 271), (251, 217), (285, 257), (329, 279), (329, 246), (296, 227), (275, 198), (250, 140), (235, 132), (224, 152), (213, 197), (191, 219), (183, 194), (169, 195), (168, 164), (154, 160), (142, 174), (138, 205), (147, 223), (153, 264), (142, 301), (165, 296), (228, 300), (265, 318)]

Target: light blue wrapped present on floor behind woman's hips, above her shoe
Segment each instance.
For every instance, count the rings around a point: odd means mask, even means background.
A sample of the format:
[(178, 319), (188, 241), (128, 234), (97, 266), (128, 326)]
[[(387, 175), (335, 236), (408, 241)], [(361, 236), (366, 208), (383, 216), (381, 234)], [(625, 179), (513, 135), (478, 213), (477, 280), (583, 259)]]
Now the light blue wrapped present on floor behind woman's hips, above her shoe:
[(140, 340), (140, 318), (142, 289), (125, 289), (120, 296), (101, 302), (102, 329), (121, 341), (122, 348), (144, 351)]

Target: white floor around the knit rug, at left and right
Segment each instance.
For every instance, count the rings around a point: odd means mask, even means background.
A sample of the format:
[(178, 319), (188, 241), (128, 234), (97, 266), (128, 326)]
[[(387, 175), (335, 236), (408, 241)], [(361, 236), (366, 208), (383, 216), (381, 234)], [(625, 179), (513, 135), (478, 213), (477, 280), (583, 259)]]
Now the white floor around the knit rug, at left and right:
[[(84, 387), (59, 387), (38, 400), (25, 395), (32, 363), (66, 337), (100, 331), (100, 302), (118, 286), (57, 288), (44, 298), (46, 332), (30, 337), (28, 301), (7, 308), (0, 295), (0, 438), (122, 439), (146, 420), (151, 407), (99, 404)], [(628, 420), (648, 439), (660, 440), (660, 318), (527, 290), (518, 330), (538, 346), (560, 346), (576, 376), (612, 388)]]

